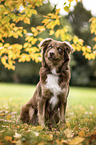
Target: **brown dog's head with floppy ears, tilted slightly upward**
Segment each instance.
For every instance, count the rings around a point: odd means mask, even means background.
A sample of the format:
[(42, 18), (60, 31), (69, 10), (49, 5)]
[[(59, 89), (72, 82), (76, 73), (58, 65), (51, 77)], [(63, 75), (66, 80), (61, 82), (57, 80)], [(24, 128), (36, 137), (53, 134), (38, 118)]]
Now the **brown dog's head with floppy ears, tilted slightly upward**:
[(42, 49), (42, 66), (61, 66), (70, 59), (73, 47), (69, 42), (60, 42), (47, 38), (40, 43)]

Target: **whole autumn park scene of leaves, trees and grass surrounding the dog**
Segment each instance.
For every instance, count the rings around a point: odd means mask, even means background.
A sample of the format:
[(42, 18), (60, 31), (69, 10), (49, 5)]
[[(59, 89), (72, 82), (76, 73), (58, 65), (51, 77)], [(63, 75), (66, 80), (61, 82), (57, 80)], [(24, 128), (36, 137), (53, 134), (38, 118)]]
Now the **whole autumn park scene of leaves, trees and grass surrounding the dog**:
[[(0, 0), (0, 145), (96, 145), (96, 12), (84, 1)], [(74, 47), (66, 124), (51, 129), (16, 122), (36, 89), (38, 44), (48, 37)]]

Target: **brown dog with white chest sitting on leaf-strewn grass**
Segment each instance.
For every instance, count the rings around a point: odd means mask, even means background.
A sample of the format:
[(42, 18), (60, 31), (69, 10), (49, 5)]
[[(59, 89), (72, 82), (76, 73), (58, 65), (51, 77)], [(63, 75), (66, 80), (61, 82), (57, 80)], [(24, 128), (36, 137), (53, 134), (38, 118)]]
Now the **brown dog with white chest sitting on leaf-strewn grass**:
[(65, 122), (65, 111), (70, 80), (69, 42), (47, 38), (41, 42), (42, 67), (36, 91), (21, 109), (20, 120), (41, 126)]

